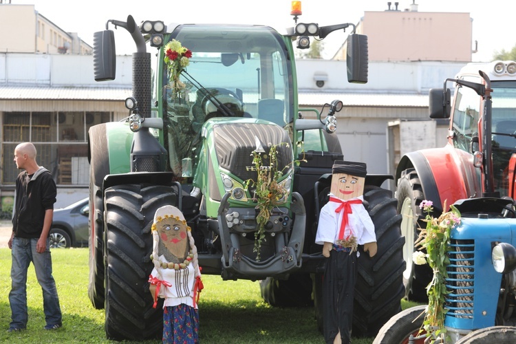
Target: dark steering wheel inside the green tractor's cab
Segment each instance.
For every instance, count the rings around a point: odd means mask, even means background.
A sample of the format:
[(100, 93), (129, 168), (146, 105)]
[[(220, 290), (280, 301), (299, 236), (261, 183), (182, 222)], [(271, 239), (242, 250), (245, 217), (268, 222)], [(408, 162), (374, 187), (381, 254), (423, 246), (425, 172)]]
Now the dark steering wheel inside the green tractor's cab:
[[(209, 96), (204, 96), (201, 101), (201, 109), (204, 111), (206, 118), (204, 120), (208, 120), (213, 117), (227, 116), (224, 112), (220, 111), (217, 107), (218, 103), (213, 98), (217, 98), (217, 100), (226, 105), (226, 107), (233, 114), (232, 116), (241, 117), (244, 114), (244, 106), (239, 100), (237, 94), (235, 92), (231, 92), (228, 89), (224, 88), (212, 88), (208, 89)], [(217, 105), (215, 105), (217, 104)]]

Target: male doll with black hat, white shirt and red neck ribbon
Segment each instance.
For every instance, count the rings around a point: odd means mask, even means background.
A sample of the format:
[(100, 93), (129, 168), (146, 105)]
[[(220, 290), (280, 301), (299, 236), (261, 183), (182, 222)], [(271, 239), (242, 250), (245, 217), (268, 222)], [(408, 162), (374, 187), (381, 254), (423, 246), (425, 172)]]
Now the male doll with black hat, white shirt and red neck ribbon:
[(330, 200), (321, 208), (315, 243), (323, 245), (323, 334), (326, 343), (350, 343), (358, 245), (376, 255), (374, 224), (363, 206), (366, 165), (337, 160)]

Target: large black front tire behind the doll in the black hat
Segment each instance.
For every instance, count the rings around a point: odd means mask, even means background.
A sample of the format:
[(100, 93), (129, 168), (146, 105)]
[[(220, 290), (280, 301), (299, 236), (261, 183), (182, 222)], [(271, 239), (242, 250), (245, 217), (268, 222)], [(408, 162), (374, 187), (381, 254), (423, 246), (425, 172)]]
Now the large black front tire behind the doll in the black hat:
[[(328, 191), (323, 193), (327, 194)], [(353, 306), (353, 336), (375, 336), (391, 316), (401, 311), (401, 299), (405, 293), (402, 281), (405, 238), (400, 232), (401, 216), (396, 212), (397, 202), (392, 198), (391, 191), (367, 185), (364, 201), (374, 223), (378, 252), (374, 257), (369, 257), (369, 253), (360, 249)], [(314, 278), (315, 314), (317, 326), (322, 330), (321, 274), (314, 274)]]

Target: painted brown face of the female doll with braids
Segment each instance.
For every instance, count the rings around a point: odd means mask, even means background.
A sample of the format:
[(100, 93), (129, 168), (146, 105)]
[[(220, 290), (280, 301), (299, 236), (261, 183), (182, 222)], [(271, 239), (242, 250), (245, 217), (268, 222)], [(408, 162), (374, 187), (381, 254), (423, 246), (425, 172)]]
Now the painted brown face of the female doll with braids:
[(178, 259), (186, 258), (189, 245), (186, 224), (173, 217), (166, 217), (156, 223), (160, 240), (167, 250)]

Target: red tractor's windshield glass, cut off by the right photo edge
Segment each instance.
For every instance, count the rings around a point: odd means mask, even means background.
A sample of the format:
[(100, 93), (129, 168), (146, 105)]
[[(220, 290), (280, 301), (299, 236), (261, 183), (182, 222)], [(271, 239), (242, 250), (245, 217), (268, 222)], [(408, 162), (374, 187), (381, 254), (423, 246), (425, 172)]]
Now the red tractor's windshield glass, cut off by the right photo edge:
[(508, 162), (516, 153), (516, 83), (493, 81), (493, 172), (500, 195), (507, 195)]

